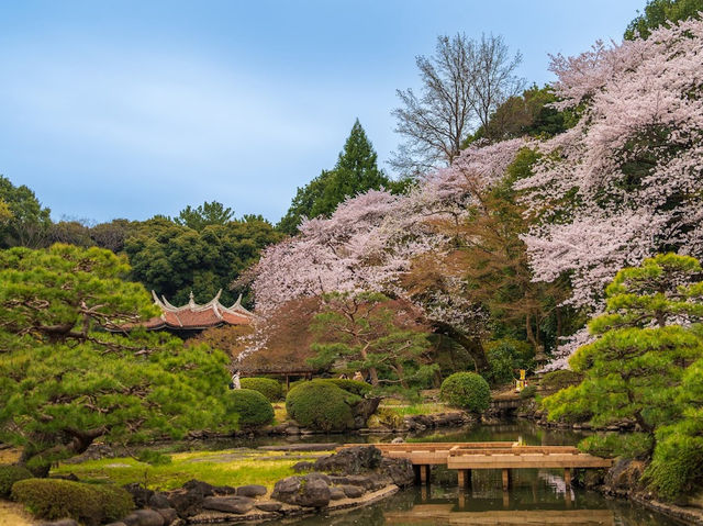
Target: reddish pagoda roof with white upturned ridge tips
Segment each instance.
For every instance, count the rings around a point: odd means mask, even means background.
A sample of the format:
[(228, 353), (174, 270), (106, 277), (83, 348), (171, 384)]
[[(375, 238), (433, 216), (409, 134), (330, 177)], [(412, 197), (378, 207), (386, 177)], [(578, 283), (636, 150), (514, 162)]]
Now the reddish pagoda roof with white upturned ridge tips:
[(250, 325), (256, 314), (242, 306), (242, 294), (232, 306), (220, 303), (222, 289), (208, 303), (196, 303), (193, 293), (190, 301), (182, 306), (171, 305), (166, 296), (159, 296), (152, 291), (154, 303), (161, 310), (161, 315), (148, 320), (143, 325), (149, 331), (202, 331), (222, 325)]

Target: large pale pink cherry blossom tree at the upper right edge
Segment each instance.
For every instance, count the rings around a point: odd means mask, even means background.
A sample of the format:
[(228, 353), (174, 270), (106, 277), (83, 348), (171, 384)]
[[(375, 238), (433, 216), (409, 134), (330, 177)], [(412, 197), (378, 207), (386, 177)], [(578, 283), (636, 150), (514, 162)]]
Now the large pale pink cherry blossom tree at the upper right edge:
[(540, 160), (515, 188), (536, 220), (524, 236), (535, 279), (569, 275), (568, 303), (598, 313), (621, 268), (703, 255), (702, 61), (698, 20), (553, 57), (555, 107), (580, 119), (536, 146)]

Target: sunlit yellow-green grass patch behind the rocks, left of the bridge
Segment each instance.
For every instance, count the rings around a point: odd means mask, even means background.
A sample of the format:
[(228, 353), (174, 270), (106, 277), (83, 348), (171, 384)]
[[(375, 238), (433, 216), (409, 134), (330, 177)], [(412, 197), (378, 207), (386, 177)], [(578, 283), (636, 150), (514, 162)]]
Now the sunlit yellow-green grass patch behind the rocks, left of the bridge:
[(152, 490), (172, 490), (191, 479), (213, 485), (263, 484), (269, 490), (276, 481), (295, 474), (292, 467), (321, 452), (258, 451), (228, 449), (169, 455), (171, 463), (150, 466), (130, 457), (59, 465), (52, 474), (75, 473), (81, 480), (110, 480), (120, 485), (140, 482)]

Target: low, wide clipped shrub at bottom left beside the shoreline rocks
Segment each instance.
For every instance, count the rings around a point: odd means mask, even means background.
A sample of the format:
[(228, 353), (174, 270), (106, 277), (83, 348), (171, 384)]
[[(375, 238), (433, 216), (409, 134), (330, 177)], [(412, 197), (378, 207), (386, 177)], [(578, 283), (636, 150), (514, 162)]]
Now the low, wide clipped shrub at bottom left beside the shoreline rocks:
[(88, 526), (122, 518), (134, 507), (122, 488), (69, 480), (27, 479), (12, 486), (12, 497), (40, 518), (74, 518)]

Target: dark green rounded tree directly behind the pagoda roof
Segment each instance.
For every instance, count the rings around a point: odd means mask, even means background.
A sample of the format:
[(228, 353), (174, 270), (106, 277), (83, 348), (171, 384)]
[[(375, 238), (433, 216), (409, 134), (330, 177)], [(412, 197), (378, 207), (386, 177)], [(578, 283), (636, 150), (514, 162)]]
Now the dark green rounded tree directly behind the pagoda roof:
[(205, 303), (222, 289), (221, 301), (232, 304), (237, 293), (230, 286), (254, 264), (260, 250), (281, 238), (260, 219), (209, 224), (200, 230), (167, 219), (141, 223), (124, 244), (132, 266), (131, 278), (171, 303), (188, 302), (192, 291)]

